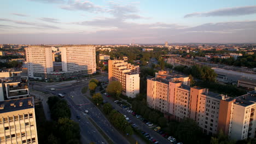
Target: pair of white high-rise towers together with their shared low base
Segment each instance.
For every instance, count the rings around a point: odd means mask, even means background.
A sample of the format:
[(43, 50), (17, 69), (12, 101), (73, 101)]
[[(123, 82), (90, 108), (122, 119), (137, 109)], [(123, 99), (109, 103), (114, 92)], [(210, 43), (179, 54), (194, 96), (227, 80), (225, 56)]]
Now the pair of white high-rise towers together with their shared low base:
[(61, 55), (61, 67), (54, 69), (52, 46), (28, 46), (26, 58), (28, 77), (40, 80), (60, 80), (96, 73), (94, 46), (68, 45), (57, 47)]

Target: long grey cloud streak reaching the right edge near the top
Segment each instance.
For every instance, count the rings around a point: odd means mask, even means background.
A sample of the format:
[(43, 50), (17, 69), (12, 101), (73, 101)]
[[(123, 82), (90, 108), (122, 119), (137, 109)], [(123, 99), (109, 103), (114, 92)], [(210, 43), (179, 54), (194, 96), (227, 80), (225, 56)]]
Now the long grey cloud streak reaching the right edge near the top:
[(256, 14), (256, 5), (246, 6), (246, 7), (235, 7), (235, 8), (224, 8), (216, 9), (208, 12), (202, 13), (191, 13), (184, 16), (188, 17), (207, 17), (207, 16), (240, 16), (240, 15), (249, 15)]

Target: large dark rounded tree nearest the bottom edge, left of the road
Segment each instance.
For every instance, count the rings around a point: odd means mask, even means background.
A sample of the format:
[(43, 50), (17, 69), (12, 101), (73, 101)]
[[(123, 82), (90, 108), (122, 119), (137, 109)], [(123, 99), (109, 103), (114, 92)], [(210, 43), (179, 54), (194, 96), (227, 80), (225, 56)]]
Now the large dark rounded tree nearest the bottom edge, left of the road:
[(55, 130), (55, 135), (62, 138), (61, 143), (80, 139), (80, 128), (78, 123), (69, 118), (60, 118), (55, 125)]

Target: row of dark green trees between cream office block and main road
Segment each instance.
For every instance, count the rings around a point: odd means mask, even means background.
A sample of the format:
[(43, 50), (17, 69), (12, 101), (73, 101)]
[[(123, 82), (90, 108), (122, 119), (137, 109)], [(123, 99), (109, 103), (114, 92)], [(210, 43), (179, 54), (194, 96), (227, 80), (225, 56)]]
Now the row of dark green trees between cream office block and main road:
[(45, 130), (48, 133), (48, 139), (45, 143), (80, 143), (79, 124), (71, 120), (71, 111), (65, 100), (59, 97), (49, 97), (47, 101), (51, 113), (52, 122), (49, 122), (50, 128)]

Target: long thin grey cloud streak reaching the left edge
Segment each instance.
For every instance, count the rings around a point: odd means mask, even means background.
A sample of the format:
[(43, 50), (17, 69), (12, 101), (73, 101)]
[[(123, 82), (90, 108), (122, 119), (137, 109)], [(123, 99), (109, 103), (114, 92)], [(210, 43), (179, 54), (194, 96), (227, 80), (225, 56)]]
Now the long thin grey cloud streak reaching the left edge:
[(13, 23), (20, 24), (20, 25), (36, 26), (36, 27), (39, 27), (39, 28), (60, 29), (59, 27), (51, 26), (51, 25), (46, 25), (44, 23), (35, 23), (35, 22), (27, 22), (27, 21), (16, 21), (16, 20), (1, 19), (1, 18), (0, 18), (0, 21), (13, 22)]

